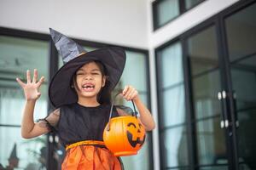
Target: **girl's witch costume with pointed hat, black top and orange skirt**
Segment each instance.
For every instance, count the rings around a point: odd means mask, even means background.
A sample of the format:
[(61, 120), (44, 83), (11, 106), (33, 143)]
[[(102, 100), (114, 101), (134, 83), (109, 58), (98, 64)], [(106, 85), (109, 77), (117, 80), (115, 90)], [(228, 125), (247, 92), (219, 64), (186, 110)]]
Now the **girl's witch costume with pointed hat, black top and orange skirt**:
[[(75, 72), (84, 64), (97, 61), (104, 65), (107, 72), (108, 83), (105, 86), (113, 90), (125, 67), (125, 51), (111, 47), (86, 52), (58, 31), (50, 29), (50, 35), (64, 65), (49, 84), (49, 99), (57, 109), (40, 122), (59, 135), (61, 144), (67, 150), (61, 169), (124, 169), (119, 157), (113, 156), (102, 139), (111, 104), (100, 102), (101, 105), (96, 107), (79, 105), (78, 95), (72, 86)], [(104, 88), (101, 93), (104, 93)], [(113, 108), (114, 116), (119, 116), (116, 107)]]

